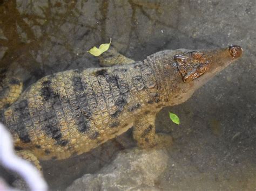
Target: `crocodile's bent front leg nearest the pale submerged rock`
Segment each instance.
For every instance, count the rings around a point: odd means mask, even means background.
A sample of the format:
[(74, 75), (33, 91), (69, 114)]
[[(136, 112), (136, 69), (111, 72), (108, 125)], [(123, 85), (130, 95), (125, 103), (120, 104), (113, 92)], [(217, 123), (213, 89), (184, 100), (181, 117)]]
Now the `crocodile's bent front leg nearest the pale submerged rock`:
[(156, 133), (156, 114), (148, 114), (137, 119), (133, 126), (133, 138), (141, 148), (154, 146), (170, 146), (172, 137), (164, 133)]

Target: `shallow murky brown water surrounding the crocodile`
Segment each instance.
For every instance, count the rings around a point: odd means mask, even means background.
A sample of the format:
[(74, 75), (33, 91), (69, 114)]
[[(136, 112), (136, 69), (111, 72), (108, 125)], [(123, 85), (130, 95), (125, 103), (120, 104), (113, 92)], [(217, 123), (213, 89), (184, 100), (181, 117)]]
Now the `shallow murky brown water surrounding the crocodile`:
[[(0, 67), (28, 87), (48, 74), (98, 67), (86, 51), (110, 38), (134, 60), (162, 49), (238, 44), (242, 59), (158, 115), (157, 128), (174, 144), (153, 188), (255, 190), (255, 12), (252, 0), (0, 1)], [(180, 117), (179, 126), (168, 111)], [(51, 188), (64, 189), (134, 146), (129, 131), (79, 157), (43, 162), (45, 178)]]

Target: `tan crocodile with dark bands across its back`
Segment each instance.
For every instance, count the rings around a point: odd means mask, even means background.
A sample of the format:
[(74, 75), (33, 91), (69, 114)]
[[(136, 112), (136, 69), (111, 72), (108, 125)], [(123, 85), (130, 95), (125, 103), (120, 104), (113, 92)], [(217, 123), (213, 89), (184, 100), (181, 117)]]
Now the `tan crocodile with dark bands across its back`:
[(238, 45), (164, 50), (137, 62), (109, 55), (105, 67), (48, 75), (22, 94), (21, 82), (12, 80), (6, 93), (12, 98), (5, 98), (10, 105), (0, 120), (14, 137), (17, 154), (38, 169), (39, 160), (88, 152), (130, 128), (141, 148), (170, 145), (170, 135), (155, 131), (157, 112), (188, 100), (242, 52)]

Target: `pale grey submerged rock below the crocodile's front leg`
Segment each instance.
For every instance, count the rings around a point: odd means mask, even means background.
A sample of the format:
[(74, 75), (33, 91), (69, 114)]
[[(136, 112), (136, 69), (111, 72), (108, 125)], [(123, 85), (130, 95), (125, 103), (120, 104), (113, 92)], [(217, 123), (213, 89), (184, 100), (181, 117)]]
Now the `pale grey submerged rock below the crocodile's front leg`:
[(168, 160), (166, 150), (126, 150), (97, 174), (85, 174), (66, 190), (156, 190), (154, 182)]

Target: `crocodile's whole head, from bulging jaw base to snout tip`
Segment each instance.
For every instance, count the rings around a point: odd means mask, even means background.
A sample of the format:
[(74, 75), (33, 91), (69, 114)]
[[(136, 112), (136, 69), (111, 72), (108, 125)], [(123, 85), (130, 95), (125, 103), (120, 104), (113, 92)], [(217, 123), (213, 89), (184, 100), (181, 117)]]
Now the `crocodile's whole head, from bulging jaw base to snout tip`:
[(163, 86), (168, 87), (166, 91), (169, 101), (165, 105), (185, 102), (195, 90), (239, 59), (242, 52), (242, 48), (237, 45), (202, 51), (187, 49), (163, 51), (161, 54), (164, 56), (160, 63), (164, 67), (164, 72), (161, 78), (169, 81)]

